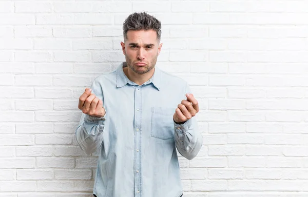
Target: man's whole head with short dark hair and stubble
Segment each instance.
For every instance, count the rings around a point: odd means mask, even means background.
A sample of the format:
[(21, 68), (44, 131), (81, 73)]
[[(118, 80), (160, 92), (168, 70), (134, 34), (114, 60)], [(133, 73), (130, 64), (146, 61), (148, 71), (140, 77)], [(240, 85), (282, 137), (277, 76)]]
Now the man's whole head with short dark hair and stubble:
[(146, 12), (130, 14), (123, 23), (123, 36), (127, 66), (138, 74), (152, 70), (162, 47), (160, 21)]

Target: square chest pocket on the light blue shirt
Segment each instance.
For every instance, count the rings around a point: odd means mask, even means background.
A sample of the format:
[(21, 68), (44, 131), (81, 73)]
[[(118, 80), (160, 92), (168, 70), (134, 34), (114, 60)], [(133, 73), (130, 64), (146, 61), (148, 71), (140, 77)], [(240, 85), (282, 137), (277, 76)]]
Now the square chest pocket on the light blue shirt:
[(169, 140), (175, 137), (173, 115), (175, 109), (152, 107), (151, 136), (161, 140)]

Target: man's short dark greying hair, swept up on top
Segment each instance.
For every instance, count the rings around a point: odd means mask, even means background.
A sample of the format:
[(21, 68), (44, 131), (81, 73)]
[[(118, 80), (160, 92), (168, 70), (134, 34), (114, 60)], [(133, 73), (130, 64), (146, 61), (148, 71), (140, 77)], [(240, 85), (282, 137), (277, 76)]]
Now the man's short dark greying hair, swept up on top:
[(161, 22), (147, 14), (146, 12), (132, 13), (130, 14), (123, 23), (123, 36), (124, 41), (127, 40), (128, 30), (155, 30), (157, 34), (157, 40), (160, 41), (161, 38)]

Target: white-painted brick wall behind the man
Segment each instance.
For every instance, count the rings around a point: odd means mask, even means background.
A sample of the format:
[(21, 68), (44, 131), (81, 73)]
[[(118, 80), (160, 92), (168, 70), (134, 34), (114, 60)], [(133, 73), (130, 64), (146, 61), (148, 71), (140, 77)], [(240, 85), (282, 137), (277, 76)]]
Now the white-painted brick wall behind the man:
[(92, 196), (78, 97), (125, 60), (121, 25), (144, 10), (163, 25), (157, 66), (200, 103), (184, 196), (308, 196), (304, 0), (0, 1), (0, 196)]

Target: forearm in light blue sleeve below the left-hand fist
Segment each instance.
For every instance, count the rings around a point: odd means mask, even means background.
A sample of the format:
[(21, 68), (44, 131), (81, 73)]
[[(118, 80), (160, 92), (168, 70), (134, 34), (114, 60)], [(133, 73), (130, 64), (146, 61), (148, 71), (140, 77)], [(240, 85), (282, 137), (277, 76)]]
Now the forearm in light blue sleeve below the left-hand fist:
[(75, 135), (79, 146), (86, 154), (91, 154), (101, 146), (105, 120), (105, 116), (93, 117), (82, 114), (79, 126), (75, 130)]

